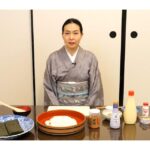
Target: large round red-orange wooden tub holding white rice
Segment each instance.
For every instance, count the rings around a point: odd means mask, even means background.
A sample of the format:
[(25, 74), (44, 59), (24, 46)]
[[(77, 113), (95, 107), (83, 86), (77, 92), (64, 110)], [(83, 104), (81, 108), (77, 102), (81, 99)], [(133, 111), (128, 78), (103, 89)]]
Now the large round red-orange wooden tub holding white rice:
[[(76, 120), (77, 124), (65, 127), (47, 126), (45, 121), (51, 119), (54, 116), (68, 116)], [(63, 120), (62, 120), (63, 121)], [(86, 117), (74, 110), (51, 110), (43, 112), (37, 117), (38, 129), (46, 134), (52, 135), (69, 135), (81, 131), (85, 127)]]

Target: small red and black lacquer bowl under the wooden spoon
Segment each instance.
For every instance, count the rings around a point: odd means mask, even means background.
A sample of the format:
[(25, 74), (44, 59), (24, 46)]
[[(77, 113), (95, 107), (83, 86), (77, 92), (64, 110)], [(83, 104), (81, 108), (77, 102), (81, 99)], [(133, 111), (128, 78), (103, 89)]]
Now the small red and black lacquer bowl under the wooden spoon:
[(17, 106), (16, 108), (20, 108), (25, 110), (25, 112), (16, 112), (13, 110), (13, 113), (15, 115), (20, 115), (20, 116), (28, 116), (31, 112), (31, 107), (30, 106)]

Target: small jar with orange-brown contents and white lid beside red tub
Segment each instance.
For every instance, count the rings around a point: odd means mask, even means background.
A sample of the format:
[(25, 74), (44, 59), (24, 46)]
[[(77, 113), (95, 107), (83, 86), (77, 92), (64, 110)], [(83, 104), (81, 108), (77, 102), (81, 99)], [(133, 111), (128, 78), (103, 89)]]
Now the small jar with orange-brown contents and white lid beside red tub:
[(90, 109), (88, 124), (90, 128), (100, 127), (100, 110), (93, 108)]

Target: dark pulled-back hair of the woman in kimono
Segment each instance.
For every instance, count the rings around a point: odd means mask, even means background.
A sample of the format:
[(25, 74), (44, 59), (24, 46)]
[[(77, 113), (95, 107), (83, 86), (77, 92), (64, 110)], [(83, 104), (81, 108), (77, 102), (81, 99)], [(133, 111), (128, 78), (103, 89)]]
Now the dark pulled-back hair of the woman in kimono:
[(75, 19), (75, 18), (69, 18), (69, 19), (67, 19), (67, 20), (64, 22), (64, 24), (63, 24), (63, 26), (62, 26), (62, 33), (64, 32), (64, 27), (65, 27), (67, 24), (70, 24), (70, 23), (75, 23), (75, 24), (77, 24), (77, 25), (79, 26), (79, 28), (80, 28), (81, 34), (83, 33), (83, 28), (82, 28), (81, 22), (80, 22), (78, 19)]

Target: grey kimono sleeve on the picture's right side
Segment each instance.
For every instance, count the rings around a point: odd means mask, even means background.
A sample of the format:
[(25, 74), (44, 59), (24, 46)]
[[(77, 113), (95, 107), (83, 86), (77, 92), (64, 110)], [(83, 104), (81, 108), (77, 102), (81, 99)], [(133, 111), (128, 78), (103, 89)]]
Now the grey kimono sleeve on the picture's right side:
[(89, 97), (88, 102), (90, 106), (103, 106), (104, 94), (101, 74), (98, 68), (98, 61), (93, 55), (91, 68), (89, 72)]

